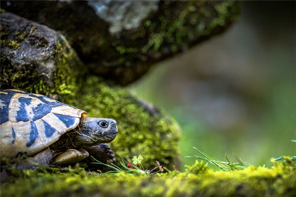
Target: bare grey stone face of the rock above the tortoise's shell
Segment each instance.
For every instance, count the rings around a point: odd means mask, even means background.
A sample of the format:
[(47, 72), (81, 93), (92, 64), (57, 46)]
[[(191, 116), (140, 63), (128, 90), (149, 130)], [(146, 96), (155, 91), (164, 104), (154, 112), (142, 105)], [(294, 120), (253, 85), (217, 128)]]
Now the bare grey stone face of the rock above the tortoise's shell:
[(0, 22), (1, 57), (12, 69), (28, 69), (42, 75), (45, 83), (53, 87), (55, 49), (60, 35), (8, 12), (1, 14)]

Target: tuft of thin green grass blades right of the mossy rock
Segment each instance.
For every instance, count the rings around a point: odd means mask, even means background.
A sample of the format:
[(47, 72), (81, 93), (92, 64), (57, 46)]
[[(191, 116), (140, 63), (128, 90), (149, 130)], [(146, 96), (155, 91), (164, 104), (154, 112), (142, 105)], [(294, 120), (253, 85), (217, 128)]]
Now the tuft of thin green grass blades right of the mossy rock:
[(225, 155), (225, 159), (227, 160), (227, 162), (223, 162), (223, 161), (220, 161), (220, 160), (215, 159), (213, 157), (210, 157), (209, 155), (201, 152), (200, 150), (198, 150), (195, 147), (192, 147), (192, 148), (194, 148), (195, 150), (197, 150), (204, 157), (200, 157), (200, 156), (194, 155), (194, 156), (186, 156), (187, 158), (195, 157), (197, 159), (207, 161), (210, 164), (216, 165), (217, 167), (220, 168), (220, 170), (223, 170), (223, 171), (240, 170), (240, 169), (244, 169), (244, 168), (246, 168), (248, 166), (252, 166), (251, 164), (246, 163), (246, 162), (242, 161), (239, 158), (235, 158), (238, 162), (236, 162), (236, 163), (235, 162), (232, 162), (230, 160), (230, 158), (228, 157), (228, 155)]

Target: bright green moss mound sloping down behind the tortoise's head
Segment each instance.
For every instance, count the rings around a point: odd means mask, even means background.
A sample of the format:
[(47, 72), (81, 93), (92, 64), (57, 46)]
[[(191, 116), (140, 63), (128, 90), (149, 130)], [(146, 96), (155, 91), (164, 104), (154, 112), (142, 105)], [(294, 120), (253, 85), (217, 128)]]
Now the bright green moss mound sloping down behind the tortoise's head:
[(112, 118), (118, 123), (117, 137), (111, 142), (117, 161), (131, 161), (141, 154), (144, 166), (152, 168), (155, 160), (168, 167), (178, 160), (180, 131), (174, 120), (163, 112), (151, 114), (127, 90), (100, 78), (88, 76), (82, 86), (76, 106), (89, 116)]

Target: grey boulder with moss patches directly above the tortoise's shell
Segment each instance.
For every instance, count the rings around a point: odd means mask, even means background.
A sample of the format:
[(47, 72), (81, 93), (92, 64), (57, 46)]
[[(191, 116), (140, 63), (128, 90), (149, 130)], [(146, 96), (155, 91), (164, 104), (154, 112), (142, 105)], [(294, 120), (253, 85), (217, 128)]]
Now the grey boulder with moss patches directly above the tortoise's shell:
[(64, 36), (9, 12), (0, 15), (0, 88), (73, 98), (70, 76), (81, 63)]

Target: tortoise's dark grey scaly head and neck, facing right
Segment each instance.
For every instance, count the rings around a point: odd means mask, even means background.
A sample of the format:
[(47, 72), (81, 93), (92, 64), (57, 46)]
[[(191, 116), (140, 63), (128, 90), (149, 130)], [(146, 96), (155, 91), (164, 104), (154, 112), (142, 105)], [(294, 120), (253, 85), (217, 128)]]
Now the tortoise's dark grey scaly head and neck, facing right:
[(116, 121), (108, 118), (82, 118), (72, 132), (68, 132), (74, 147), (94, 146), (111, 142), (117, 134)]

